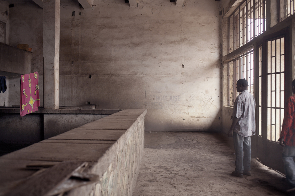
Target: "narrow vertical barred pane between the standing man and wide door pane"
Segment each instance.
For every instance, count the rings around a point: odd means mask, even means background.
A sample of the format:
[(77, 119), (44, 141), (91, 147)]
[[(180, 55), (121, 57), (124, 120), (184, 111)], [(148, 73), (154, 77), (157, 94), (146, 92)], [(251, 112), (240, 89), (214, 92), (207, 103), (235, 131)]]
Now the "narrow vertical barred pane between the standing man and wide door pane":
[(258, 135), (262, 136), (262, 46), (258, 48)]

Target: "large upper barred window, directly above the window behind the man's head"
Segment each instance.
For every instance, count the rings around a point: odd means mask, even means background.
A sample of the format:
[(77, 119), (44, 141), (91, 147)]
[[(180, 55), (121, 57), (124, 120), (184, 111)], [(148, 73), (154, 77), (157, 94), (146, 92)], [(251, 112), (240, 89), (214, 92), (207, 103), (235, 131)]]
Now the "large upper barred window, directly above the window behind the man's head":
[(266, 0), (244, 0), (230, 15), (229, 53), (266, 30)]

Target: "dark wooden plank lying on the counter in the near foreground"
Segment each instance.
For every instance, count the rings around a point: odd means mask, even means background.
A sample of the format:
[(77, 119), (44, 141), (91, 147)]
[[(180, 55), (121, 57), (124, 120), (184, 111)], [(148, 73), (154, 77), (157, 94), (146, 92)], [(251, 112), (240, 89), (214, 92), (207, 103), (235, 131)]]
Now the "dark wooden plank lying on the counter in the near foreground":
[(61, 162), (33, 175), (5, 196), (43, 196), (69, 179), (73, 172), (81, 168), (84, 162)]

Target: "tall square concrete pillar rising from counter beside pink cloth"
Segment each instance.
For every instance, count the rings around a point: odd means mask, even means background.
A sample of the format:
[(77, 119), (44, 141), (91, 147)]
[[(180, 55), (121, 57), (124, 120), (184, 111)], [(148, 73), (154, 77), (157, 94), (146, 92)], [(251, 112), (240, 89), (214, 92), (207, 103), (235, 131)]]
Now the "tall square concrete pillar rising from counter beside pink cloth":
[(44, 108), (59, 108), (60, 0), (43, 0)]

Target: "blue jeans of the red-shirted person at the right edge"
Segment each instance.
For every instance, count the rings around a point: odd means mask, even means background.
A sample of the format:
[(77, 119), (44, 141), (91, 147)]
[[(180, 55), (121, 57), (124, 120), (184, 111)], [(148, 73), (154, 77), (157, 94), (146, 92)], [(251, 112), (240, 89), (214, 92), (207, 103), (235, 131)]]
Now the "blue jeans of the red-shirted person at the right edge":
[(287, 182), (295, 186), (295, 146), (284, 146), (283, 148), (283, 162), (285, 165), (285, 173)]

